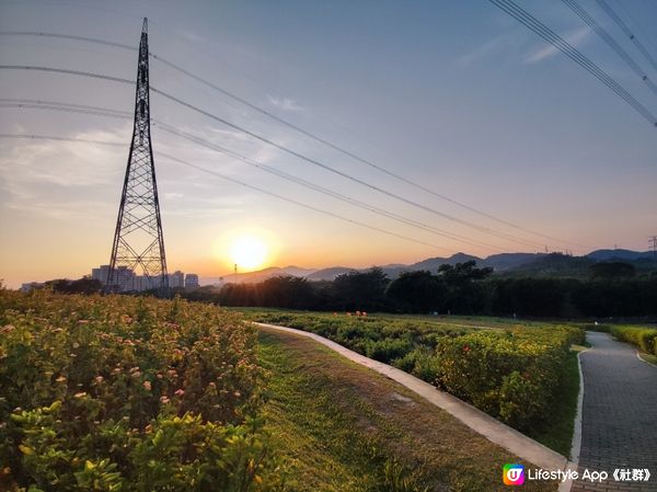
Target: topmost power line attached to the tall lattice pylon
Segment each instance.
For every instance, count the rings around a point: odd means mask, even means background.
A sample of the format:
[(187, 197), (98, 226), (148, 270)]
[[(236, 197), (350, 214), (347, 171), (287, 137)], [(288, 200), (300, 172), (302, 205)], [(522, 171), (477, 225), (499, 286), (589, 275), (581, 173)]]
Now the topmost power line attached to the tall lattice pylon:
[[(101, 44), (101, 45), (108, 45), (108, 46), (113, 46), (113, 47), (119, 47), (119, 48), (124, 48), (124, 49), (135, 50), (135, 48), (132, 46), (129, 46), (129, 45), (126, 45), (126, 44), (123, 44), (123, 43), (115, 43), (115, 42), (105, 41), (105, 39), (97, 39), (97, 38), (87, 37), (87, 36), (76, 36), (76, 35), (69, 35), (69, 34), (44, 33), (44, 32), (33, 32), (33, 31), (16, 31), (16, 32), (0, 32), (0, 35), (42, 36), (42, 37), (54, 37), (54, 38), (73, 39), (73, 41), (82, 41), (82, 42), (88, 42), (88, 43), (94, 43), (94, 44)], [(378, 170), (378, 171), (380, 171), (380, 172), (382, 172), (382, 173), (384, 173), (384, 174), (387, 174), (387, 175), (389, 175), (391, 178), (394, 178), (394, 179), (396, 179), (399, 181), (402, 181), (402, 182), (404, 182), (406, 184), (410, 184), (410, 185), (412, 185), (412, 186), (414, 186), (414, 187), (416, 187), (418, 190), (422, 190), (422, 191), (424, 191), (424, 192), (426, 192), (426, 193), (428, 193), (430, 195), (434, 195), (434, 196), (436, 196), (436, 197), (438, 197), (440, 199), (443, 199), (443, 201), (447, 201), (449, 203), (452, 203), (452, 204), (454, 204), (454, 205), (457, 205), (459, 207), (465, 208), (465, 209), (468, 209), (470, 211), (473, 211), (475, 214), (479, 214), (479, 215), (481, 215), (483, 217), (486, 217), (488, 219), (495, 220), (497, 222), (505, 224), (506, 226), (512, 227), (515, 229), (522, 230), (525, 232), (529, 232), (529, 233), (534, 234), (534, 236), (540, 236), (540, 237), (543, 237), (545, 239), (550, 239), (552, 241), (557, 241), (557, 242), (562, 242), (562, 243), (569, 243), (569, 241), (564, 241), (562, 239), (554, 238), (552, 236), (548, 236), (548, 234), (544, 234), (542, 232), (538, 232), (538, 231), (531, 230), (529, 228), (526, 228), (523, 226), (519, 226), (517, 224), (514, 224), (514, 222), (510, 222), (508, 220), (502, 219), (502, 218), (496, 217), (496, 216), (494, 216), (494, 215), (492, 215), (492, 214), (489, 214), (487, 211), (484, 211), (484, 210), (481, 210), (479, 208), (475, 208), (475, 207), (472, 207), (470, 205), (466, 205), (466, 204), (464, 204), (462, 202), (459, 202), (459, 201), (457, 201), (454, 198), (451, 198), (451, 197), (449, 197), (447, 195), (438, 193), (438, 192), (436, 192), (436, 191), (434, 191), (434, 190), (431, 190), (431, 188), (429, 188), (427, 186), (424, 186), (424, 185), (422, 185), (419, 183), (416, 183), (415, 181), (408, 180), (407, 178), (404, 178), (404, 176), (402, 176), (402, 175), (400, 175), (397, 173), (389, 171), (388, 169), (385, 169), (385, 168), (383, 168), (383, 167), (381, 167), (381, 165), (372, 162), (371, 160), (365, 159), (365, 158), (362, 158), (362, 157), (360, 157), (360, 156), (358, 156), (358, 155), (356, 155), (356, 153), (354, 153), (354, 152), (345, 149), (344, 147), (341, 147), (341, 146), (338, 146), (336, 144), (333, 144), (333, 142), (331, 142), (330, 140), (327, 140), (325, 138), (322, 138), (322, 137), (318, 136), (316, 134), (308, 131), (308, 130), (301, 128), (300, 126), (295, 125), (293, 123), (290, 123), (287, 119), (284, 119), (284, 118), (279, 117), (279, 116), (275, 115), (274, 113), (272, 113), (272, 112), (269, 112), (269, 111), (267, 111), (267, 110), (265, 110), (265, 108), (263, 108), (263, 107), (261, 107), (261, 106), (258, 106), (256, 104), (253, 104), (253, 103), (249, 102), (247, 100), (245, 100), (245, 99), (243, 99), (243, 98), (241, 98), (241, 96), (239, 96), (239, 95), (237, 95), (237, 94), (234, 94), (234, 93), (232, 93), (232, 92), (230, 92), (230, 91), (228, 91), (228, 90), (226, 90), (226, 89), (223, 89), (223, 88), (221, 88), (221, 87), (219, 87), (219, 85), (217, 85), (217, 84), (215, 84), (215, 83), (212, 83), (212, 82), (210, 82), (210, 81), (208, 81), (208, 80), (206, 80), (206, 79), (204, 79), (201, 77), (198, 77), (198, 76), (194, 75), (189, 70), (186, 70), (185, 68), (180, 67), (178, 65), (176, 65), (176, 64), (174, 64), (172, 61), (169, 61), (169, 60), (160, 57), (159, 55), (155, 55), (152, 52), (149, 52), (149, 53), (150, 53), (150, 56), (153, 59), (155, 59), (155, 60), (160, 61), (161, 64), (163, 64), (163, 65), (172, 68), (173, 70), (176, 70), (176, 71), (178, 71), (178, 72), (181, 72), (181, 73), (189, 77), (191, 79), (194, 79), (197, 82), (200, 82), (200, 83), (205, 84), (206, 87), (209, 87), (210, 89), (214, 89), (214, 90), (220, 92), (221, 94), (223, 94), (223, 95), (226, 95), (226, 96), (228, 96), (228, 98), (230, 98), (230, 99), (232, 99), (234, 101), (238, 101), (239, 103), (241, 103), (241, 104), (250, 107), (251, 110), (256, 111), (257, 113), (261, 113), (261, 114), (263, 114), (263, 115), (265, 115), (265, 116), (267, 116), (267, 117), (276, 121), (277, 123), (280, 123), (281, 125), (285, 125), (288, 128), (293, 129), (295, 131), (298, 131), (298, 133), (300, 133), (300, 134), (302, 134), (302, 135), (304, 135), (304, 136), (307, 136), (307, 137), (315, 140), (315, 141), (318, 141), (320, 144), (323, 144), (323, 145), (325, 145), (325, 146), (327, 146), (327, 147), (330, 147), (330, 148), (332, 148), (332, 149), (334, 149), (334, 150), (336, 150), (336, 151), (338, 151), (338, 152), (341, 152), (341, 153), (343, 153), (343, 155), (345, 155), (345, 156), (347, 156), (347, 157), (349, 157), (351, 159), (355, 159), (355, 160), (357, 160), (357, 161), (359, 161), (359, 162), (361, 162), (361, 163), (364, 163), (364, 164), (366, 164), (366, 165), (368, 165), (368, 167), (370, 167), (372, 169), (376, 169), (376, 170)]]

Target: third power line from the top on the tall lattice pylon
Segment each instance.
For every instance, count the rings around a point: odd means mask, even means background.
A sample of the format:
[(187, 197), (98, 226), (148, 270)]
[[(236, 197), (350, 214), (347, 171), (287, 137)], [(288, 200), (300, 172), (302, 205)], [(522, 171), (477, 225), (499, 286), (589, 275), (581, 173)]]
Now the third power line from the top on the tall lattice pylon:
[[(61, 112), (68, 112), (68, 113), (82, 113), (82, 114), (91, 114), (91, 115), (96, 115), (96, 116), (108, 116), (108, 117), (118, 117), (118, 118), (130, 118), (132, 115), (131, 113), (127, 112), (127, 111), (117, 111), (117, 110), (108, 110), (108, 108), (104, 108), (104, 107), (97, 107), (97, 106), (89, 106), (89, 105), (83, 105), (83, 104), (69, 104), (69, 103), (59, 103), (59, 102), (53, 102), (53, 101), (39, 101), (39, 100), (27, 100), (27, 99), (0, 99), (0, 107), (18, 107), (18, 108), (36, 108), (36, 110), (48, 110), (48, 111), (61, 111)], [(234, 159), (238, 159), (244, 163), (246, 163), (247, 165), (252, 165), (254, 168), (257, 168), (262, 171), (268, 172), (270, 174), (274, 174), (278, 178), (285, 179), (287, 181), (291, 181), (293, 183), (297, 183), (301, 186), (308, 187), (310, 190), (320, 192), (324, 195), (327, 196), (332, 196), (336, 199), (339, 199), (342, 202), (346, 202), (349, 203), (350, 205), (357, 206), (359, 208), (366, 209), (368, 211), (384, 216), (387, 218), (392, 218), (393, 220), (400, 221), (402, 224), (406, 224), (416, 228), (420, 228), (423, 230), (427, 230), (430, 231), (433, 233), (436, 233), (438, 236), (458, 241), (458, 242), (462, 242), (462, 243), (466, 243), (470, 245), (474, 245), (477, 248), (486, 248), (489, 250), (499, 250), (499, 248), (494, 247), (492, 244), (487, 244), (481, 241), (476, 241), (460, 234), (457, 234), (454, 232), (447, 232), (442, 229), (438, 229), (435, 228), (433, 226), (429, 226), (427, 224), (424, 222), (419, 222), (417, 220), (414, 219), (410, 219), (407, 217), (401, 216), (399, 214), (385, 210), (383, 208), (367, 204), (365, 202), (361, 202), (359, 199), (353, 198), (348, 195), (338, 193), (338, 192), (334, 192), (330, 188), (326, 188), (324, 186), (318, 185), (316, 183), (303, 180), (301, 178), (298, 176), (293, 176), (291, 174), (288, 174), (284, 171), (280, 171), (276, 168), (273, 168), (270, 165), (254, 161), (239, 152), (235, 152), (231, 149), (228, 149), (226, 147), (219, 146), (217, 144), (210, 142), (204, 138), (200, 138), (196, 135), (189, 134), (187, 131), (183, 131), (178, 128), (175, 128), (171, 125), (168, 125), (163, 122), (159, 122), (154, 118), (151, 118), (152, 122), (152, 126), (160, 128), (164, 131), (168, 131), (172, 135), (176, 135), (178, 137), (185, 138), (189, 141), (193, 141), (197, 145), (200, 145), (203, 147), (209, 148), (214, 151), (217, 152), (221, 152), (224, 153), (227, 156), (230, 156)]]

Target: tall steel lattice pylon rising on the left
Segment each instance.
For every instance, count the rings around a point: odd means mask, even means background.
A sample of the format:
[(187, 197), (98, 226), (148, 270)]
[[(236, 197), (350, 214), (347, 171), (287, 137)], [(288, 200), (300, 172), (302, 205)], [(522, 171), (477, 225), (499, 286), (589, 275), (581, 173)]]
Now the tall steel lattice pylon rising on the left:
[[(137, 275), (141, 273), (141, 277)], [(150, 135), (148, 79), (148, 20), (143, 20), (139, 43), (135, 127), (124, 181), (112, 260), (108, 291), (169, 288), (155, 164)]]

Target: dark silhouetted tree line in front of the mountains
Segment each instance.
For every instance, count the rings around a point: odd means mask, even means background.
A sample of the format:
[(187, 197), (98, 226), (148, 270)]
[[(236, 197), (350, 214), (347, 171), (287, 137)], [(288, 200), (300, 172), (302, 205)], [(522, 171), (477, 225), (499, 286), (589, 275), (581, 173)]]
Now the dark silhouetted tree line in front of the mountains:
[[(588, 279), (504, 278), (474, 261), (441, 265), (436, 273), (379, 267), (338, 275), (333, 282), (291, 276), (182, 291), (221, 306), (327, 311), (493, 314), (549, 318), (657, 316), (657, 275), (636, 277), (622, 264), (591, 267)], [(631, 266), (631, 265), (630, 265)]]

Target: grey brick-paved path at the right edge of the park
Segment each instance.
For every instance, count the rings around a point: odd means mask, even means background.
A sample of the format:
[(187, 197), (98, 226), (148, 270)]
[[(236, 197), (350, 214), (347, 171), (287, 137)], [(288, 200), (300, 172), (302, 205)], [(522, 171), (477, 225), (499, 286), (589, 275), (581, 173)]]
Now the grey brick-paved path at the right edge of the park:
[[(587, 332), (581, 354), (584, 405), (579, 472), (606, 470), (600, 484), (578, 481), (573, 492), (657, 491), (657, 368), (607, 333)], [(649, 482), (616, 482), (616, 468), (648, 468)]]

